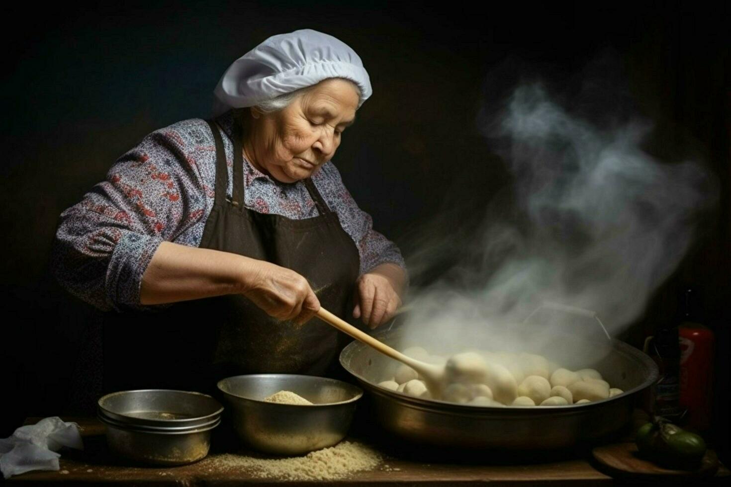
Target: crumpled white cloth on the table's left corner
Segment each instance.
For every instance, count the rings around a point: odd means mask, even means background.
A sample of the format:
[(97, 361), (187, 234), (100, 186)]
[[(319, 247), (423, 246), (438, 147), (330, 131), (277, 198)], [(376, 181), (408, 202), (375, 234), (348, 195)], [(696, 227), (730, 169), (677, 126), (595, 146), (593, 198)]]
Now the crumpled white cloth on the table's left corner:
[(64, 446), (84, 448), (78, 426), (53, 416), (20, 426), (10, 437), (0, 438), (0, 471), (4, 478), (29, 470), (58, 470), (61, 455), (56, 451)]

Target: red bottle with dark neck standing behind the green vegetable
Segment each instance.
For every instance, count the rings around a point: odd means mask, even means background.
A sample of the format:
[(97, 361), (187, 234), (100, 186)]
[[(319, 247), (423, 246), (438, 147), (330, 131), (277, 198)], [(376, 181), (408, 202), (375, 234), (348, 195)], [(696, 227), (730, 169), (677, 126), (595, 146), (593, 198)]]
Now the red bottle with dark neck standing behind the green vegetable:
[(687, 424), (704, 431), (711, 426), (714, 337), (713, 331), (700, 323), (694, 288), (686, 289), (684, 304), (684, 321), (678, 326), (680, 404), (688, 410)]

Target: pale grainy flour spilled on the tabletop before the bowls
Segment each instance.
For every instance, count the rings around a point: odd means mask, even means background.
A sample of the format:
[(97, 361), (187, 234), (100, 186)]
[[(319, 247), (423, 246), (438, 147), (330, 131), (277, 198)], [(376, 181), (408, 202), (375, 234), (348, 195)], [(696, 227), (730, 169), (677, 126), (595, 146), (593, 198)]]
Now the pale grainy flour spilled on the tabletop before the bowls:
[(335, 480), (361, 470), (374, 469), (381, 462), (381, 456), (366, 445), (344, 441), (330, 448), (313, 451), (306, 456), (260, 459), (224, 453), (204, 461), (211, 461), (226, 472), (246, 470), (257, 478)]

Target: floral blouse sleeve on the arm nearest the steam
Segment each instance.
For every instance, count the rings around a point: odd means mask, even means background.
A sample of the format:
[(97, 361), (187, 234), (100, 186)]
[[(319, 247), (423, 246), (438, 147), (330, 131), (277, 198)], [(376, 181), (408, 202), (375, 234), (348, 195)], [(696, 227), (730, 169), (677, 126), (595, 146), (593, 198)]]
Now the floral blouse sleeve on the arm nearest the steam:
[(401, 250), (395, 243), (373, 229), (373, 218), (358, 207), (355, 199), (343, 184), (336, 166), (332, 162), (323, 164), (318, 176), (314, 178), (318, 183), (318, 188), (325, 187), (325, 193), (329, 196), (327, 197), (328, 204), (336, 208), (343, 229), (350, 235), (358, 249), (360, 275), (366, 274), (386, 262), (398, 264), (406, 272)]

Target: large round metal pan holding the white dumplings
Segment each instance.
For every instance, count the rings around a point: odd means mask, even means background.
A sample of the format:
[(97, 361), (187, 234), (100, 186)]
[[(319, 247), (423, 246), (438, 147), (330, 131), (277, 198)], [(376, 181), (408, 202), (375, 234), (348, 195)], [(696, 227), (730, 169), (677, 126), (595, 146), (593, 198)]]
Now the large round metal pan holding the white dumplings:
[[(658, 369), (651, 358), (602, 331), (591, 338), (527, 324), (511, 326), (505, 331), (514, 338), (542, 334), (539, 348), (522, 351), (541, 353), (569, 369), (597, 369), (613, 387), (624, 391), (588, 404), (479, 407), (420, 399), (376, 386), (391, 375), (395, 361), (363, 343), (352, 342), (344, 348), (340, 362), (368, 392), (374, 420), (403, 440), (448, 448), (569, 448), (622, 429), (629, 422), (639, 396), (646, 396), (642, 393), (647, 393), (657, 381)], [(374, 336), (395, 348), (420, 345), (409, 343), (403, 329), (382, 331)], [(495, 338), (492, 332), (491, 338)], [(490, 342), (473, 345), (491, 348)]]

